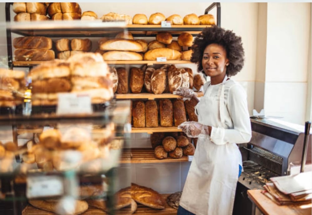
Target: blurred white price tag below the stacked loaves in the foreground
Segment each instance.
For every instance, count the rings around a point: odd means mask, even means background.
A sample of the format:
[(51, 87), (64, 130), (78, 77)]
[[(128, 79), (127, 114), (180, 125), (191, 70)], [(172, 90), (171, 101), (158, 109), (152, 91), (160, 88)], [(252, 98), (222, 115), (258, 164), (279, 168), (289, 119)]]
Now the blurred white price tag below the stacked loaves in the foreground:
[(58, 93), (56, 114), (77, 113), (92, 113), (90, 96), (78, 93)]

